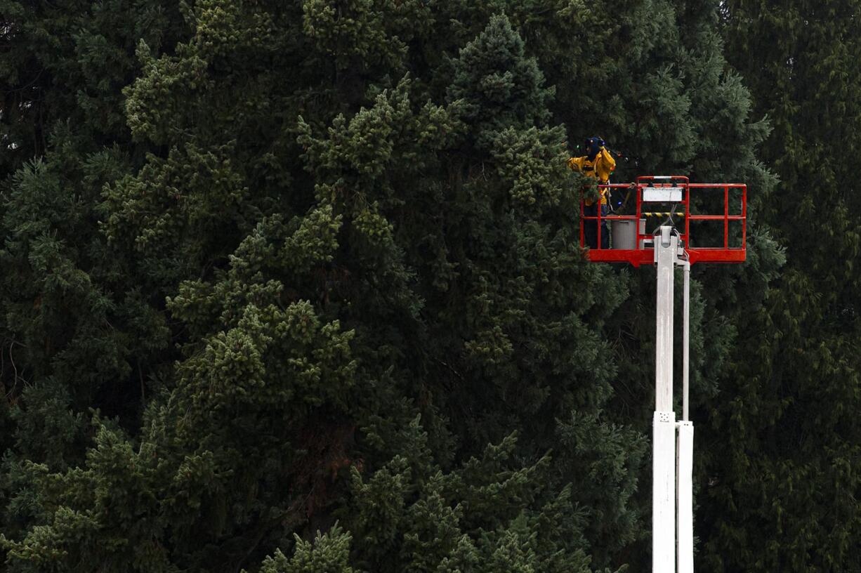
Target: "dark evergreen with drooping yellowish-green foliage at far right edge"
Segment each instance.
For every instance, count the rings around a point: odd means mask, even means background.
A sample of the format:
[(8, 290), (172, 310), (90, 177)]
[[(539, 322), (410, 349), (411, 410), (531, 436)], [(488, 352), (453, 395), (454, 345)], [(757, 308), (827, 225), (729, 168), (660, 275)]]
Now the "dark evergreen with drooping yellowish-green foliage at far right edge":
[(859, 219), (847, 161), (861, 118), (857, 12), (842, 1), (723, 4), (728, 53), (773, 126), (763, 156), (781, 184), (757, 212), (787, 262), (740, 322), (727, 398), (711, 416), (729, 455), (709, 464), (709, 570), (854, 570), (861, 560)]

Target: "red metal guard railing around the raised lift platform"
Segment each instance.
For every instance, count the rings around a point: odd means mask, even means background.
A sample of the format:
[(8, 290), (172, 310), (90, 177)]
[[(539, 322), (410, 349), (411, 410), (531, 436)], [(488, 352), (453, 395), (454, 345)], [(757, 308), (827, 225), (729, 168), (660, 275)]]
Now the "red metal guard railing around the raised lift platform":
[[(746, 258), (746, 240), (747, 240), (747, 186), (744, 183), (691, 183), (685, 176), (641, 176), (637, 177), (635, 183), (610, 183), (607, 185), (599, 185), (598, 188), (606, 190), (612, 194), (614, 191), (631, 192), (636, 194), (635, 213), (631, 214), (616, 214), (610, 213), (601, 214), (601, 208), (595, 209), (595, 215), (585, 214), (585, 203), (580, 201), (580, 246), (586, 246), (586, 225), (596, 226), (595, 246), (591, 247), (588, 252), (590, 261), (593, 262), (629, 262), (635, 267), (641, 264), (652, 264), (654, 262), (653, 250), (653, 235), (652, 231), (647, 231), (647, 219), (649, 217), (683, 219), (684, 225), (675, 225), (680, 235), (681, 244), (684, 245), (684, 250), (687, 252), (688, 260), (694, 262), (744, 262)], [(666, 189), (666, 194), (674, 192), (678, 194), (681, 190), (681, 200), (643, 200), (644, 192), (655, 194), (655, 190)], [(722, 203), (722, 213), (692, 213), (691, 208), (696, 207), (696, 210), (714, 206), (715, 193), (720, 193), (717, 203)], [(734, 197), (731, 198), (731, 194)], [(695, 195), (697, 200), (691, 204), (691, 195)], [(730, 209), (734, 200), (740, 201), (737, 208)], [(697, 203), (701, 203), (697, 205)], [(658, 207), (661, 204), (669, 205), (666, 211), (644, 211), (645, 208), (652, 206)], [(704, 205), (703, 205), (704, 204)], [(679, 208), (683, 210), (679, 210)], [(718, 209), (715, 208), (715, 211)], [(610, 244), (610, 248), (600, 248), (602, 234), (606, 231), (602, 229), (604, 223), (608, 223), (608, 231), (612, 225), (623, 225), (616, 221), (630, 221), (634, 225), (635, 232), (628, 232), (625, 238), (629, 239), (628, 244)], [(722, 223), (722, 232), (698, 232), (695, 236), (691, 233), (691, 224), (697, 223)], [(660, 224), (660, 222), (659, 222)], [(740, 232), (734, 237), (733, 243), (730, 244), (730, 225), (740, 225)], [(621, 234), (621, 233), (619, 233)], [(634, 240), (630, 239), (634, 237)], [(633, 243), (633, 244), (631, 244)], [(716, 243), (716, 244), (715, 244)]]

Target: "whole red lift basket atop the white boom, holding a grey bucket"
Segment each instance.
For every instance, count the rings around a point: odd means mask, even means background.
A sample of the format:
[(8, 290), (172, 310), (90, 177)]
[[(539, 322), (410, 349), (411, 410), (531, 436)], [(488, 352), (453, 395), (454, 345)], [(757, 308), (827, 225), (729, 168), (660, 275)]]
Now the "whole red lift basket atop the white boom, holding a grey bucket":
[[(688, 260), (744, 262), (747, 239), (747, 186), (744, 183), (691, 183), (685, 176), (641, 176), (635, 183), (599, 185), (610, 194), (615, 211), (586, 216), (580, 201), (580, 246), (586, 225), (595, 225), (592, 262), (654, 263), (653, 231), (672, 224)], [(635, 195), (635, 204), (630, 204)], [(630, 213), (633, 211), (633, 213)], [(622, 214), (628, 212), (627, 214)], [(604, 230), (604, 223), (607, 229)], [(610, 232), (610, 248), (601, 249), (601, 235)]]

